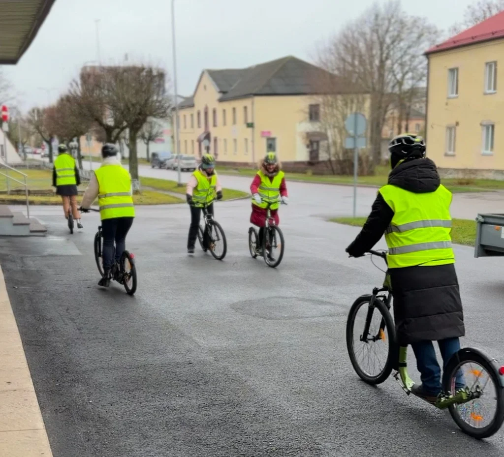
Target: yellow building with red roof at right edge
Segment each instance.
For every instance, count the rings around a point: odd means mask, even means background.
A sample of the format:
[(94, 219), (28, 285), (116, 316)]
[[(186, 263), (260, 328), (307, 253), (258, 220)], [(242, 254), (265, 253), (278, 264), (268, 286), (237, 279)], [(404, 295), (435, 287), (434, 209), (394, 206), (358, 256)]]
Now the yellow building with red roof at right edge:
[(425, 54), (427, 156), (445, 176), (504, 179), (504, 12)]

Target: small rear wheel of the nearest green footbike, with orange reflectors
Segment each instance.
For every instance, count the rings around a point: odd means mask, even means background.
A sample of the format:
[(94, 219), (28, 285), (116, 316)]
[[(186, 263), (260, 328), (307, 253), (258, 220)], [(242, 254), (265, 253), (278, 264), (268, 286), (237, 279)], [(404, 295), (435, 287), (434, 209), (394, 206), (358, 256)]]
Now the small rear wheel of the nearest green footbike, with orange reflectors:
[[(486, 373), (486, 374), (485, 374)], [(454, 395), (457, 374), (462, 375), (466, 391), (472, 400), (450, 405), (448, 410), (464, 433), (474, 438), (488, 438), (496, 433), (504, 421), (504, 387), (493, 361), (481, 351), (463, 348), (452, 356), (443, 375), (445, 394)], [(476, 378), (471, 381), (470, 378)], [(489, 381), (492, 386), (488, 386)], [(484, 402), (493, 404), (494, 413), (486, 412)]]

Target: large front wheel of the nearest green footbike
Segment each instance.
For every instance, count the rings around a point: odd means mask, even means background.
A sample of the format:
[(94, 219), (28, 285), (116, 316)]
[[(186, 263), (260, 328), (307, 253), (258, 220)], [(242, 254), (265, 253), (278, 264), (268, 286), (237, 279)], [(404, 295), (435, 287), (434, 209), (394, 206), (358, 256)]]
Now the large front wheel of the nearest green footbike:
[[(346, 325), (346, 343), (350, 362), (352, 362), (355, 372), (364, 382), (376, 385), (384, 382), (392, 372), (394, 354), (397, 354), (395, 351), (396, 331), (394, 321), (385, 303), (376, 298), (373, 306), (369, 307), (370, 301), (370, 295), (359, 297), (350, 308)], [(359, 316), (362, 323), (356, 325), (359, 311), (363, 311)], [(366, 318), (370, 320), (369, 332), (365, 341), (362, 341)], [(357, 332), (357, 336), (354, 335), (354, 331)], [(384, 350), (387, 353), (379, 357), (378, 351), (383, 352)], [(369, 361), (364, 366), (364, 363), (357, 360), (360, 355), (376, 355), (383, 368), (376, 367), (376, 362), (370, 363)]]

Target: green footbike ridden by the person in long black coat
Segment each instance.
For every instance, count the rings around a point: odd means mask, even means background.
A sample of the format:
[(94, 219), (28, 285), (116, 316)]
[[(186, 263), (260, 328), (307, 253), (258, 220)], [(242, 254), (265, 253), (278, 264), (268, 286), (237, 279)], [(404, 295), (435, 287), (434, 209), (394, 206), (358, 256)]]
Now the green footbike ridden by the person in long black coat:
[[(387, 263), (387, 252), (374, 250), (368, 252), (371, 256), (377, 255), (382, 257)], [(399, 382), (406, 394), (410, 395), (412, 393), (414, 381), (409, 377), (407, 371), (407, 346), (399, 347), (396, 342), (394, 321), (390, 312), (392, 288), (389, 275), (387, 272), (385, 273), (386, 278), (383, 287), (374, 287), (371, 295), (361, 295), (350, 308), (346, 325), (347, 350), (354, 370), (364, 382), (370, 385), (380, 384), (384, 382), (394, 370), (394, 378)], [(367, 306), (364, 328), (362, 333), (357, 337), (358, 341), (354, 341), (355, 319), (357, 312), (362, 306)], [(381, 319), (378, 319), (380, 325), (373, 327), (374, 330), (371, 330), (371, 320), (375, 310), (377, 310), (381, 316)], [(381, 371), (374, 375), (365, 371), (357, 361), (358, 354), (355, 352), (355, 343), (363, 343), (362, 352), (367, 352), (368, 354), (372, 351), (370, 346), (367, 346), (370, 343), (379, 343), (379, 345), (383, 343), (382, 346), (387, 346), (386, 349), (388, 350), (388, 354), (385, 366)], [(376, 352), (374, 351), (374, 353)], [(462, 431), (474, 438), (482, 439), (492, 436), (500, 429), (504, 421), (504, 366), (497, 368), (496, 363), (497, 361), (495, 359), (488, 357), (480, 349), (466, 347), (461, 348), (454, 354), (450, 358), (446, 369), (443, 370), (443, 390), (442, 393), (438, 395), (433, 406), (440, 410), (448, 409), (453, 420)], [(471, 387), (469, 386), (469, 382), (464, 382), (464, 387), (457, 387), (457, 375), (462, 374), (462, 367), (465, 364), (479, 365), (481, 368), (470, 368), (469, 374), (476, 376), (476, 381)], [(369, 364), (367, 368), (369, 369)], [(483, 381), (479, 381), (479, 379), (483, 370), (486, 370), (488, 373), (488, 379), (482, 387), (480, 384), (483, 384)], [(492, 383), (495, 385), (495, 414), (487, 425), (478, 427), (477, 425), (482, 425), (481, 423), (484, 420), (484, 416), (481, 412), (475, 412), (475, 407), (479, 407), (479, 400), (485, 398), (484, 388), (489, 380), (492, 380)], [(489, 395), (491, 397), (491, 393)], [(472, 422), (468, 423), (466, 419)]]

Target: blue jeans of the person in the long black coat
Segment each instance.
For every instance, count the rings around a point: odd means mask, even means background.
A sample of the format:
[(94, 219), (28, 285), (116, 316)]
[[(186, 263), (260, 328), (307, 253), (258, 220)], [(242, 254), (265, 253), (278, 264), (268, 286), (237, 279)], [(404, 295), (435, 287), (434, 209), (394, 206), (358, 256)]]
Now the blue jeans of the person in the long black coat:
[[(446, 369), (448, 361), (453, 354), (460, 349), (460, 341), (458, 338), (449, 338), (437, 342), (441, 356), (443, 357), (443, 370)], [(442, 390), (441, 387), (441, 370), (437, 363), (436, 353), (432, 341), (421, 341), (411, 345), (416, 357), (416, 366), (420, 371), (420, 379), (422, 385), (428, 393), (437, 395)], [(455, 380), (455, 388), (459, 389), (465, 386), (464, 377), (459, 370)]]

